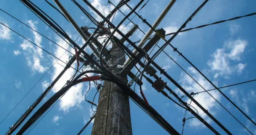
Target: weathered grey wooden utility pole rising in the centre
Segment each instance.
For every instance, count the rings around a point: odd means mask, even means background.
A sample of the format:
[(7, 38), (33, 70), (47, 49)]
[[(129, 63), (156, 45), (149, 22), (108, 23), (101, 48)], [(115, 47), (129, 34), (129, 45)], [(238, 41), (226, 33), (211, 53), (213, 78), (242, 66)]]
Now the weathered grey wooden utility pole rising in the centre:
[[(131, 36), (136, 28), (135, 26), (131, 28), (126, 37)], [(124, 41), (122, 38), (121, 42), (124, 43)], [(108, 63), (110, 65), (109, 71), (127, 84), (127, 74), (120, 74), (126, 59), (123, 57), (124, 52), (118, 47), (116, 42), (113, 43), (110, 54), (112, 59)], [(100, 91), (97, 112), (91, 132), (91, 135), (102, 134), (132, 135), (129, 96), (115, 83), (109, 81), (104, 81), (103, 88)]]

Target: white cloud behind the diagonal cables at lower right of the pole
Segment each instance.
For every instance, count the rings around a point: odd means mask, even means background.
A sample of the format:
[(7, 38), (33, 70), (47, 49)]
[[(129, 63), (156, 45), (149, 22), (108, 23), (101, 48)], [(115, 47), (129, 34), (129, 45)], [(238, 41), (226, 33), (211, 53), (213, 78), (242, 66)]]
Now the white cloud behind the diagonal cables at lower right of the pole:
[[(188, 73), (206, 90), (212, 89), (213, 86), (206, 80), (204, 79), (194, 68), (189, 67), (188, 68)], [(180, 84), (181, 86), (187, 91), (187, 92), (201, 92), (204, 91), (203, 88), (201, 88), (194, 80), (192, 80), (192, 78), (190, 76), (188, 76), (187, 74), (182, 74), (180, 75)], [(178, 92), (180, 95), (184, 95), (180, 90), (176, 89), (176, 92)], [(218, 101), (220, 101), (220, 93), (217, 91), (209, 91), (209, 93)], [(214, 110), (214, 107), (216, 106), (216, 101), (206, 92), (203, 93), (199, 93), (198, 95), (194, 96), (194, 99), (196, 99), (196, 101), (198, 103), (200, 103), (206, 110), (208, 110), (210, 113), (217, 113)], [(190, 99), (187, 99), (187, 101), (190, 103)], [(197, 109), (199, 115), (202, 118), (207, 118), (207, 114), (205, 114), (203, 112), (203, 110), (201, 110), (199, 107), (197, 107), (196, 104), (194, 104), (194, 102), (191, 103), (191, 105)], [(206, 119), (208, 120), (208, 119)], [(197, 121), (197, 122), (195, 122)], [(190, 121), (190, 126), (201, 126), (203, 125), (200, 121), (198, 121), (197, 119), (195, 120), (191, 120)]]

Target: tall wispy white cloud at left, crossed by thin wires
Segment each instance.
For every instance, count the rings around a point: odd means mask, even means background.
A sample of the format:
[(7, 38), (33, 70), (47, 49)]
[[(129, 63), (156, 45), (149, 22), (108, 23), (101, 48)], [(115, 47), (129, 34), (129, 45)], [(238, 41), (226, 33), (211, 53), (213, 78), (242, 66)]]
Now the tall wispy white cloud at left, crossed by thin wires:
[[(30, 25), (31, 28), (33, 29), (37, 29), (36, 24), (37, 21), (33, 22), (32, 20), (28, 20), (27, 21), (28, 24)], [(41, 47), (41, 42), (42, 42), (42, 37), (36, 33), (35, 31), (31, 30), (31, 32), (33, 33), (33, 37), (34, 37), (34, 42), (35, 44), (37, 44), (39, 47)], [(31, 39), (28, 39), (31, 41)], [(46, 69), (48, 69), (47, 67), (44, 67), (41, 65), (40, 59), (39, 58), (43, 58), (43, 53), (42, 53), (42, 49), (38, 48), (38, 47), (34, 47), (32, 45), (31, 42), (24, 40), (21, 44), (20, 47), (25, 50), (25, 55), (26, 55), (26, 59), (28, 62), (28, 66), (31, 67), (31, 69), (35, 72), (38, 71), (39, 73), (44, 72)], [(32, 56), (31, 56), (32, 55)]]

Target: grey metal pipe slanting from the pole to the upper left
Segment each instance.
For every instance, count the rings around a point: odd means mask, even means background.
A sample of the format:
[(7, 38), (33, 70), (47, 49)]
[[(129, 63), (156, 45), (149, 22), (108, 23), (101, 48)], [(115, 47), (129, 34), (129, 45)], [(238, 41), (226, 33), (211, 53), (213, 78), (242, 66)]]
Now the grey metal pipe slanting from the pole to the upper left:
[[(75, 22), (75, 20), (69, 15), (68, 11), (66, 11), (66, 9), (63, 7), (63, 5), (59, 2), (59, 0), (53, 0), (55, 2), (55, 4), (59, 7), (59, 9), (63, 12), (63, 14), (66, 16), (66, 18), (68, 18), (69, 22), (71, 23), (71, 25), (76, 29), (76, 31), (80, 34), (80, 36), (87, 41), (88, 37), (85, 35), (85, 33), (82, 31), (82, 29), (77, 25), (77, 23)], [(92, 49), (92, 52), (95, 52), (96, 56), (98, 59), (100, 59), (100, 52), (98, 52), (98, 50), (94, 47), (94, 45), (92, 43), (89, 43), (89, 47)], [(107, 61), (102, 58), (103, 63), (106, 65), (106, 67), (108, 68), (109, 65), (107, 64)]]

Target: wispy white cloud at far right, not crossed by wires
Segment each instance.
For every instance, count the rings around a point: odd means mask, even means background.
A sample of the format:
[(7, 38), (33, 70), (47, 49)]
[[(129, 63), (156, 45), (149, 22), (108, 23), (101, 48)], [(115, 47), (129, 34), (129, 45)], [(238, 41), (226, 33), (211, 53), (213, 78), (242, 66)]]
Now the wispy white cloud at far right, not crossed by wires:
[(239, 74), (242, 72), (245, 65), (231, 65), (230, 60), (240, 61), (246, 45), (247, 42), (245, 40), (230, 40), (224, 43), (223, 48), (217, 49), (212, 54), (213, 59), (209, 60), (207, 64), (211, 71), (215, 72), (214, 78), (217, 78), (218, 76), (229, 78), (229, 75), (231, 75), (236, 69), (238, 69)]

